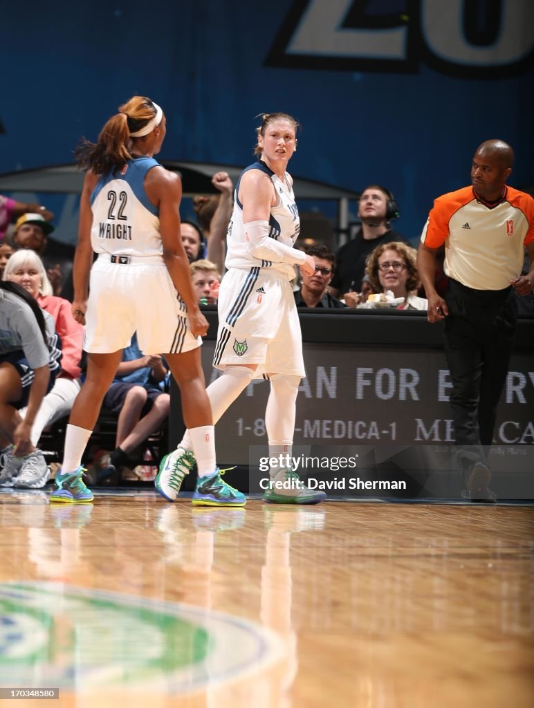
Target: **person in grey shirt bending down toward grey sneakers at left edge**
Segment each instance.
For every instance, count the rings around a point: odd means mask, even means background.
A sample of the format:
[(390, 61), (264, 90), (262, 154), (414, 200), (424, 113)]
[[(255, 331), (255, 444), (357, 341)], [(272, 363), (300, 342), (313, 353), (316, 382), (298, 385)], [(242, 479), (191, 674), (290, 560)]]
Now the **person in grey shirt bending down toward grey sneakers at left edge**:
[(20, 285), (0, 281), (0, 486), (39, 488), (50, 477), (31, 430), (60, 359), (52, 317)]

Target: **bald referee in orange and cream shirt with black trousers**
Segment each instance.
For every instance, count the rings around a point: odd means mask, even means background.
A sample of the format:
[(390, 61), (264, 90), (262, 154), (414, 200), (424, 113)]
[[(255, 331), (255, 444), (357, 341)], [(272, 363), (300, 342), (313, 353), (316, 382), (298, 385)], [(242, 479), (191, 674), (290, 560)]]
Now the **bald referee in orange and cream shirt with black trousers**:
[[(472, 159), (471, 186), (438, 197), (417, 257), (428, 321), (445, 319), (445, 355), (460, 473), (471, 501), (496, 501), (487, 451), (506, 382), (518, 295), (534, 289), (534, 200), (506, 185), (513, 150), (487, 140)], [(434, 287), (436, 251), (445, 244), (445, 298)], [(521, 275), (525, 248), (530, 270)]]

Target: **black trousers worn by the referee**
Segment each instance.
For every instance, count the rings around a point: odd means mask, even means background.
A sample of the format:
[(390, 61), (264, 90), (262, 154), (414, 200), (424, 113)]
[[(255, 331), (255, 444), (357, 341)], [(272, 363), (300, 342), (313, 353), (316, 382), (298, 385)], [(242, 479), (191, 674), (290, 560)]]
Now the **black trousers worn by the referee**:
[[(496, 409), (506, 383), (517, 309), (512, 288), (472, 290), (450, 279), (445, 301), (445, 356), (456, 445), (485, 461), (492, 445)], [(473, 461), (469, 455), (470, 463)]]

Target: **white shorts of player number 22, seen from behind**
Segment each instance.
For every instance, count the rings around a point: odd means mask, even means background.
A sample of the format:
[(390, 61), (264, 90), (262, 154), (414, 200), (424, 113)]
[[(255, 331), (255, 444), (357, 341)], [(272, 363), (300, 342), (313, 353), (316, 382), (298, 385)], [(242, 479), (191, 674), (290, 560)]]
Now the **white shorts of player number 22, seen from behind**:
[(129, 346), (135, 331), (145, 354), (181, 353), (202, 344), (189, 331), (186, 306), (161, 262), (111, 263), (101, 254), (91, 268), (85, 321), (84, 349), (93, 354)]

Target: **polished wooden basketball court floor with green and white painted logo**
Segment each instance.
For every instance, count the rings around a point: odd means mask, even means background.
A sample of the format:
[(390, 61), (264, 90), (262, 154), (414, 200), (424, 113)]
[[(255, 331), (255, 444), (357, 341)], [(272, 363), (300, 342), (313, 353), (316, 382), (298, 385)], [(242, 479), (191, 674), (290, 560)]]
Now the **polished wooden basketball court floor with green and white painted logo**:
[(534, 704), (531, 506), (3, 489), (0, 527), (2, 705)]

